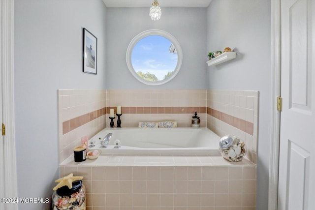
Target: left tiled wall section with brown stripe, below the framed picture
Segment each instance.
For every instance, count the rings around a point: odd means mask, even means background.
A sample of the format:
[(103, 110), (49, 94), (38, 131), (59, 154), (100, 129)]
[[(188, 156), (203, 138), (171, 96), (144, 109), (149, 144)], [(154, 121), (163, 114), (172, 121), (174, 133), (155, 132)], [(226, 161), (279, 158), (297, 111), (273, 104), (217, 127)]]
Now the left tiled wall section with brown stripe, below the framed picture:
[(59, 161), (106, 127), (106, 90), (58, 90)]

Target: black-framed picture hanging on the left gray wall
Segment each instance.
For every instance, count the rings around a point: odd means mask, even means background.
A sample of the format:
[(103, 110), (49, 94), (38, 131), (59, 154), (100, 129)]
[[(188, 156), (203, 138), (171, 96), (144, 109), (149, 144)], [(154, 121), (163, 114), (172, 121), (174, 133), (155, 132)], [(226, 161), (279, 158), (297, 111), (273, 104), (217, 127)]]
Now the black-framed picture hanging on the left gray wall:
[(86, 28), (83, 29), (83, 72), (97, 73), (97, 38)]

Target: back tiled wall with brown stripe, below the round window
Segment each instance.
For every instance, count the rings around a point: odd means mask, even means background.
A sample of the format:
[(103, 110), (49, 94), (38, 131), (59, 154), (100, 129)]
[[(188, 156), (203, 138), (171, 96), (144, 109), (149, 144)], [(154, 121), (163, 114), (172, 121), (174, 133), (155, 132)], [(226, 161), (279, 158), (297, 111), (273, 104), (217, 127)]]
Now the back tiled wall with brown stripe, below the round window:
[[(197, 111), (201, 127), (207, 123), (207, 90), (107, 90), (107, 109), (122, 106), (122, 127), (138, 127), (139, 121), (177, 121), (190, 127)], [(109, 113), (109, 112), (107, 112)], [(107, 126), (110, 120), (107, 114)], [(115, 127), (117, 117), (114, 120)]]

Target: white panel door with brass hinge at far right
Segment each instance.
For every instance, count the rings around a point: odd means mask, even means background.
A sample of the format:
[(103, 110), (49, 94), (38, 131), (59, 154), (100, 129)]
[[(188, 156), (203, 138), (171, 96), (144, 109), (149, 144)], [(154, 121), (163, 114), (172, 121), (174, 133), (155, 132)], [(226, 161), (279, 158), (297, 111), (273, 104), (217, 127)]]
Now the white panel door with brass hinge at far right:
[(281, 1), (278, 210), (315, 210), (315, 1)]

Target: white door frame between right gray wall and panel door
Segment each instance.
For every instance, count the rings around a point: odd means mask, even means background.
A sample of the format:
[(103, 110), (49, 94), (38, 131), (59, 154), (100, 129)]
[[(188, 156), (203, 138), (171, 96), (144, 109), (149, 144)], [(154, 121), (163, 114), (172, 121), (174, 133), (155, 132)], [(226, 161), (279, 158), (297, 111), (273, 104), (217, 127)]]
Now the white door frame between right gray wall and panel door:
[(271, 111), (268, 210), (277, 210), (281, 113), (277, 110), (277, 97), (281, 96), (281, 0), (271, 0), (271, 73), (273, 109)]

